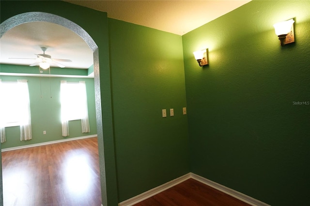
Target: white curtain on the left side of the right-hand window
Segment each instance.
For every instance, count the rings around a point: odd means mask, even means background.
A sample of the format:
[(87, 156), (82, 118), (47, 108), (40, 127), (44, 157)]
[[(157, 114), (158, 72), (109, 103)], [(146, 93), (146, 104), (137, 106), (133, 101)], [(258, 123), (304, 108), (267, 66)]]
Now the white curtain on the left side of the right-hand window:
[(62, 105), (62, 109), (61, 109), (61, 113), (62, 113), (62, 136), (63, 137), (67, 137), (69, 136), (69, 123), (68, 123), (68, 119), (67, 119), (67, 111), (66, 111), (66, 94), (67, 92), (67, 87), (66, 87), (67, 81), (65, 80), (61, 80), (60, 81), (60, 99), (61, 99), (61, 105)]

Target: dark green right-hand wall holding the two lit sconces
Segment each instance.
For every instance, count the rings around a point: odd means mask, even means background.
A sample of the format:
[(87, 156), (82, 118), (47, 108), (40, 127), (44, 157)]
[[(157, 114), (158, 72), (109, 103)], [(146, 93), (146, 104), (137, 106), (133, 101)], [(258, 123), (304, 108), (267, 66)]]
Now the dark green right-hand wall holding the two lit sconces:
[[(295, 19), (281, 47), (273, 24)], [(191, 172), (273, 206), (310, 205), (310, 1), (251, 1), (182, 36)], [(200, 67), (193, 51), (209, 48)]]

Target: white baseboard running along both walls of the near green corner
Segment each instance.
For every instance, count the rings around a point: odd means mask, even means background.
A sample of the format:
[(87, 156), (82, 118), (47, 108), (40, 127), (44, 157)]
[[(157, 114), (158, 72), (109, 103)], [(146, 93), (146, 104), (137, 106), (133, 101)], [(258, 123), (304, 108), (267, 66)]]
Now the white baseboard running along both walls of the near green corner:
[(154, 196), (155, 194), (158, 194), (158, 193), (160, 193), (160, 192), (162, 192), (164, 190), (167, 190), (167, 189), (169, 189), (169, 188), (171, 188), (171, 187), (173, 187), (173, 186), (175, 186), (177, 184), (180, 184), (181, 182), (184, 182), (185, 180), (190, 179), (190, 178), (193, 178), (193, 179), (195, 179), (195, 180), (197, 180), (197, 181), (199, 181), (199, 182), (201, 182), (201, 183), (203, 183), (205, 185), (208, 185), (208, 186), (210, 186), (210, 187), (212, 187), (212, 188), (214, 188), (216, 190), (222, 191), (222, 192), (224, 192), (224, 193), (226, 193), (226, 194), (228, 194), (228, 195), (230, 195), (230, 196), (232, 196), (232, 197), (234, 197), (236, 199), (239, 199), (239, 200), (241, 200), (241, 201), (243, 201), (245, 203), (248, 203), (251, 206), (270, 206), (270, 205), (268, 205), (266, 203), (263, 203), (263, 202), (261, 202), (259, 200), (256, 200), (256, 199), (252, 198), (252, 197), (249, 197), (248, 195), (245, 195), (245, 194), (243, 194), (241, 192), (238, 192), (236, 190), (227, 188), (227, 187), (225, 187), (223, 185), (220, 185), (220, 184), (218, 184), (216, 182), (213, 182), (213, 181), (211, 181), (209, 179), (206, 179), (206, 178), (204, 178), (202, 176), (199, 176), (199, 175), (193, 174), (193, 173), (185, 174), (185, 175), (183, 175), (181, 177), (178, 177), (178, 178), (176, 178), (174, 180), (171, 180), (170, 182), (167, 182), (167, 183), (165, 183), (163, 185), (160, 185), (160, 186), (158, 186), (156, 188), (153, 188), (151, 190), (143, 192), (142, 194), (139, 194), (139, 195), (137, 195), (135, 197), (132, 197), (132, 198), (130, 198), (128, 200), (125, 200), (125, 201), (119, 203), (118, 205), (119, 206), (133, 206), (133, 205), (135, 205), (135, 204), (137, 204), (137, 203), (139, 203), (139, 202), (141, 202), (141, 201), (143, 201), (143, 200), (145, 200), (147, 198), (150, 198), (150, 197)]

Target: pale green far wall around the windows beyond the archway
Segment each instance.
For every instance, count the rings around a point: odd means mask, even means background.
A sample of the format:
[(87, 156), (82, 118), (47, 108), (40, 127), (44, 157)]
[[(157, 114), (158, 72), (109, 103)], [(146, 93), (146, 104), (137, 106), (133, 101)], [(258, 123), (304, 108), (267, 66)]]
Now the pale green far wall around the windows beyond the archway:
[[(13, 65), (11, 67), (18, 67), (18, 66)], [(6, 127), (5, 128), (6, 142), (1, 143), (2, 149), (97, 134), (93, 79), (90, 78), (49, 79), (47, 77), (42, 77), (40, 79), (40, 77), (19, 77), (19, 76), (0, 76), (0, 79), (2, 79), (3, 82), (16, 81), (17, 79), (28, 80), (28, 87), (30, 93), (30, 108), (31, 108), (31, 126), (32, 126), (32, 139), (29, 141), (20, 141), (19, 127)], [(61, 80), (67, 80), (68, 82), (78, 82), (78, 81), (86, 82), (86, 90), (88, 97), (88, 115), (91, 129), (90, 133), (82, 133), (81, 120), (74, 120), (69, 121), (70, 135), (65, 138), (62, 137), (61, 105), (60, 105)], [(42, 88), (42, 98), (40, 88)], [(1, 101), (5, 101), (5, 99), (1, 99)], [(43, 134), (44, 130), (47, 131), (46, 135)]]

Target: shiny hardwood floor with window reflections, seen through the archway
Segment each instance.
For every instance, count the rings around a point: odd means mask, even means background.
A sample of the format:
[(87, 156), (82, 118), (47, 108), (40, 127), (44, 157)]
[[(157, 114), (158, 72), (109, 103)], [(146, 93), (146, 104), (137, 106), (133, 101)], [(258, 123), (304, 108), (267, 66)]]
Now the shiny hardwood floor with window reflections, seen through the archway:
[(2, 152), (4, 206), (100, 206), (97, 138)]

